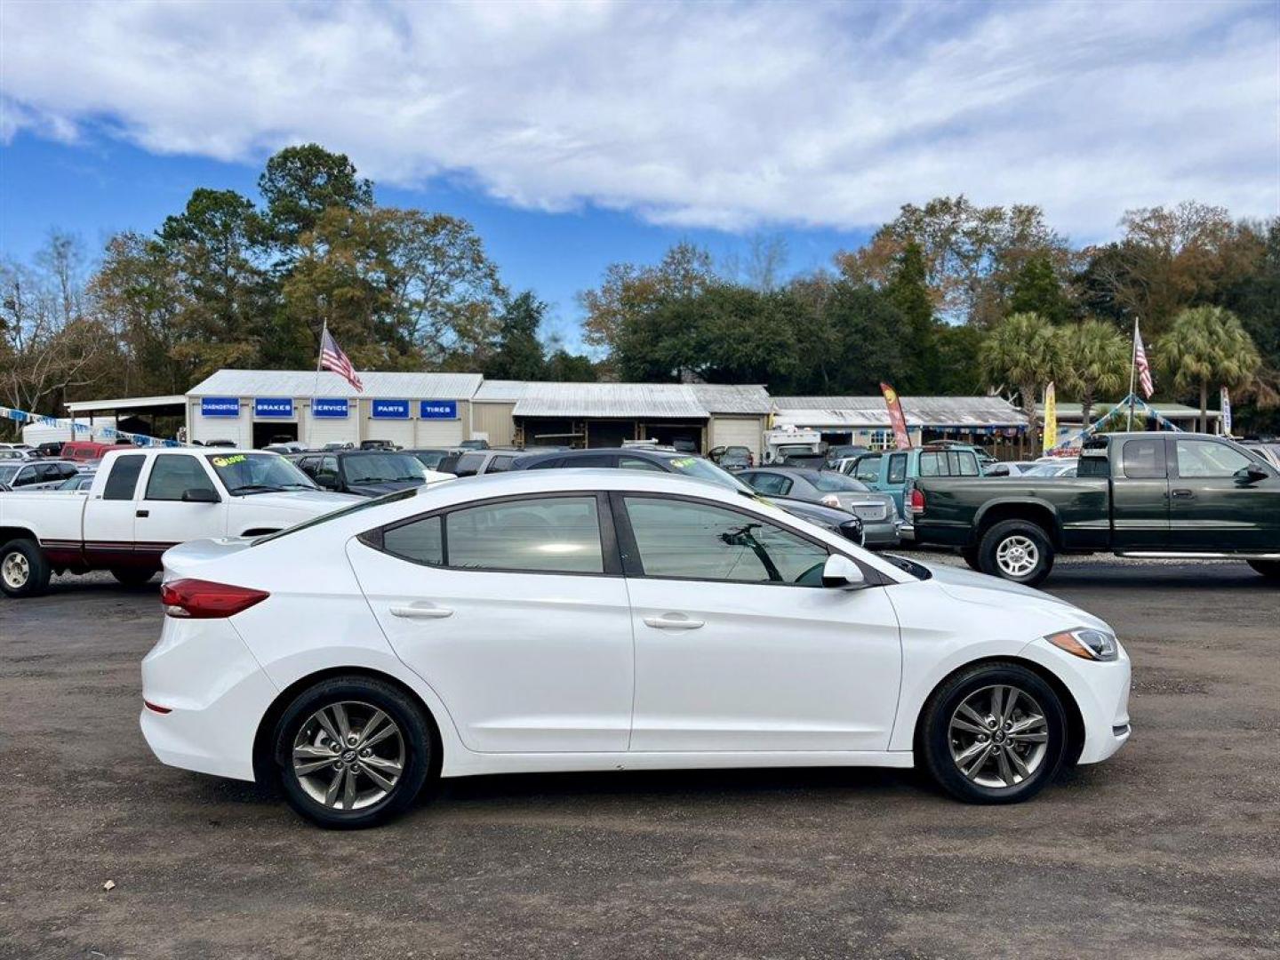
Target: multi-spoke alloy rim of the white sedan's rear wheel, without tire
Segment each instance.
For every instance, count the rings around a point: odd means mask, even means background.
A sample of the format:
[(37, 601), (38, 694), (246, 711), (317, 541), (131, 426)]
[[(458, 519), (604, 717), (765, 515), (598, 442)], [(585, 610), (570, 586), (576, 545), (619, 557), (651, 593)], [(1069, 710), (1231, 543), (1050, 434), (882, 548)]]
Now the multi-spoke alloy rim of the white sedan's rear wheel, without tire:
[(343, 700), (321, 707), (293, 740), (293, 773), (303, 791), (334, 810), (384, 800), (404, 772), (404, 736), (387, 713)]

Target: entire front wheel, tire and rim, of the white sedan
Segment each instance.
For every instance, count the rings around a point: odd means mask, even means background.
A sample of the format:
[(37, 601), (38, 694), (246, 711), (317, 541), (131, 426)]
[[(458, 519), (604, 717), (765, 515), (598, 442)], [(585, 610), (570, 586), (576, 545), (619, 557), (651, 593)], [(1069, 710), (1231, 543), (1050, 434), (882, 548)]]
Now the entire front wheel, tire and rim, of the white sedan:
[(1066, 717), (1053, 689), (1025, 667), (979, 664), (931, 698), (920, 750), (933, 780), (959, 800), (1012, 804), (1053, 778), (1066, 754)]

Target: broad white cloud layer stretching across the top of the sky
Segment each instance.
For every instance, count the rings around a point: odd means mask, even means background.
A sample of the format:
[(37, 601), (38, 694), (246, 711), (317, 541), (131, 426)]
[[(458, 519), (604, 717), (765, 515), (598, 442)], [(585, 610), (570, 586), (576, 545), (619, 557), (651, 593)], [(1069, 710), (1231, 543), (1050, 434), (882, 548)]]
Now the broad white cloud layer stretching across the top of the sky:
[(86, 125), (658, 223), (856, 228), (965, 192), (1082, 237), (1280, 210), (1274, 4), (8, 3), (0, 138)]

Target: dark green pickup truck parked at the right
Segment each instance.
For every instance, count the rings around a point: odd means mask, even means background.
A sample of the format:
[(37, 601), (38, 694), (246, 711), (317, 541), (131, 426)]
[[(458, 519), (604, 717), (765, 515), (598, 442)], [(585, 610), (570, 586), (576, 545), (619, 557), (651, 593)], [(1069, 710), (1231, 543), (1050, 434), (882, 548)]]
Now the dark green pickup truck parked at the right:
[(1096, 552), (1242, 559), (1280, 579), (1280, 471), (1207, 434), (1107, 434), (1074, 477), (922, 477), (905, 513), (916, 544), (1019, 584), (1059, 553)]

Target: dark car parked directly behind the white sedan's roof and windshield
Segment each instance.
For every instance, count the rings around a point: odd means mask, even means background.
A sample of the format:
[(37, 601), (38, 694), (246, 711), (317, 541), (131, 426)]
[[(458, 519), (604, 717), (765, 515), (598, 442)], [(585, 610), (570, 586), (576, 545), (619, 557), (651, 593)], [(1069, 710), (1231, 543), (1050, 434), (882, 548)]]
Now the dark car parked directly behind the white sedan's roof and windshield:
[[(585, 451), (557, 451), (554, 453), (529, 454), (521, 457), (513, 470), (557, 470), (557, 468), (604, 468), (604, 470), (648, 470), (650, 472), (680, 474), (695, 480), (723, 486), (745, 497), (759, 497), (736, 475), (730, 474), (708, 460), (691, 457), (677, 451), (664, 451), (657, 447), (593, 448)], [(788, 513), (794, 513), (824, 530), (840, 534), (856, 544), (863, 543), (863, 521), (854, 513), (838, 507), (827, 507), (795, 497), (771, 497), (771, 500)]]

